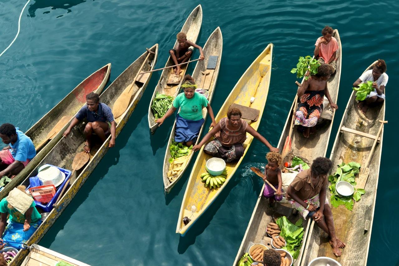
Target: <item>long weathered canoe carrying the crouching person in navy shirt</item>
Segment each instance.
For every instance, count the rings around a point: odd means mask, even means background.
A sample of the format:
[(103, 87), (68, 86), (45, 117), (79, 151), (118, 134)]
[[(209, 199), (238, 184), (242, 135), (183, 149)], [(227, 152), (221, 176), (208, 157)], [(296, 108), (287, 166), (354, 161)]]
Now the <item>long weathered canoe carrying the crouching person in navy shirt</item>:
[[(145, 64), (143, 67), (143, 71), (152, 70), (155, 63), (156, 58), (158, 56), (158, 44), (155, 44), (150, 48), (152, 52), (155, 54), (151, 54), (148, 58), (148, 64)], [(100, 101), (109, 106), (113, 106), (113, 103), (119, 97), (119, 95), (124, 91), (127, 86), (130, 86), (134, 77), (136, 76), (137, 71), (140, 69), (140, 66), (144, 62), (147, 56), (147, 52), (142, 54), (136, 61), (134, 61), (128, 68), (126, 68), (120, 75), (109, 85), (107, 89), (100, 95)], [(140, 100), (146, 86), (148, 85), (148, 81), (150, 80), (151, 75), (143, 80), (144, 83), (140, 83), (136, 81), (134, 83), (134, 90), (132, 93), (132, 101), (129, 104), (128, 109), (115, 121), (117, 122), (117, 130), (116, 136), (119, 135), (120, 131), (128, 121), (130, 115), (134, 111), (138, 101)], [(81, 151), (83, 151), (83, 145), (85, 143), (85, 135), (83, 134), (83, 130), (85, 128), (85, 123), (79, 123), (77, 126), (73, 127), (71, 130), (71, 134), (68, 135), (67, 138), (62, 138), (54, 148), (43, 158), (43, 160), (39, 163), (39, 165), (30, 173), (28, 178), (25, 179), (23, 185), (29, 185), (29, 177), (35, 176), (38, 173), (38, 168), (46, 163), (51, 165), (56, 165), (58, 167), (64, 169), (72, 169), (72, 161), (75, 155)], [(85, 183), (91, 172), (95, 169), (97, 164), (103, 158), (105, 153), (108, 151), (108, 145), (111, 136), (109, 136), (104, 143), (101, 141), (97, 141), (94, 143), (93, 139), (93, 147), (91, 147), (90, 151), (90, 161), (87, 163), (85, 167), (76, 172), (77, 178), (75, 182), (70, 184), (69, 188), (65, 191), (63, 197), (57, 204), (57, 207), (51, 210), (46, 220), (39, 226), (39, 228), (34, 232), (34, 234), (29, 238), (26, 244), (29, 246), (38, 243), (44, 234), (49, 230), (49, 228), (54, 224), (55, 220), (60, 216), (63, 210), (67, 207), (69, 202), (75, 197), (76, 193), (79, 191), (81, 186)], [(20, 250), (17, 256), (12, 260), (9, 265), (20, 265), (24, 258), (28, 255), (29, 250)]]

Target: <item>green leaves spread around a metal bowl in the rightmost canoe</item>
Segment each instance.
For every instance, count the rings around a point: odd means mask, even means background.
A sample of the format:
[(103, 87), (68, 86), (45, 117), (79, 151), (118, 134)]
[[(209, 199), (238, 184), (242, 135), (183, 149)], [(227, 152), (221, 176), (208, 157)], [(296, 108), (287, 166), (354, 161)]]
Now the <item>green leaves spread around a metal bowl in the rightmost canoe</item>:
[(345, 207), (348, 210), (352, 210), (353, 200), (358, 201), (361, 195), (365, 193), (364, 189), (355, 189), (355, 192), (353, 193), (352, 196), (341, 197), (335, 189), (336, 183), (340, 181), (346, 181), (351, 183), (352, 186), (356, 186), (355, 175), (359, 173), (359, 169), (360, 169), (359, 163), (355, 162), (350, 162), (347, 164), (341, 163), (340, 165), (338, 165), (336, 173), (328, 177), (328, 181), (330, 181), (331, 183), (331, 185), (328, 188), (330, 189), (332, 194), (331, 195), (332, 206), (337, 208), (340, 205), (345, 205)]

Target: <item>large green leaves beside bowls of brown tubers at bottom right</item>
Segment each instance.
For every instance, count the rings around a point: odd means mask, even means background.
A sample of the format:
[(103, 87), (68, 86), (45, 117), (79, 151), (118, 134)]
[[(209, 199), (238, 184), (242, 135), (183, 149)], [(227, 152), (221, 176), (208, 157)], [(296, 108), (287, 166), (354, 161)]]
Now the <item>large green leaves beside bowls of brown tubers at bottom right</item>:
[(286, 246), (282, 249), (287, 250), (292, 255), (292, 258), (297, 259), (302, 246), (303, 232), (302, 226), (303, 219), (300, 218), (295, 224), (292, 224), (286, 216), (281, 216), (276, 220), (280, 227), (280, 236), (287, 242)]

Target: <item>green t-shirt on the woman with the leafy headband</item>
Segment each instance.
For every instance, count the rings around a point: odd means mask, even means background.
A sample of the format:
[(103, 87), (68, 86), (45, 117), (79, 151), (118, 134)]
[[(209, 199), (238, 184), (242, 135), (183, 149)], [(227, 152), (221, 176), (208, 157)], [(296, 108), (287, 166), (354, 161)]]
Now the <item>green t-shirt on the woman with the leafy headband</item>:
[(173, 106), (177, 109), (180, 107), (179, 115), (184, 119), (197, 121), (203, 118), (202, 108), (208, 106), (208, 100), (198, 92), (191, 99), (187, 99), (182, 92), (174, 99)]

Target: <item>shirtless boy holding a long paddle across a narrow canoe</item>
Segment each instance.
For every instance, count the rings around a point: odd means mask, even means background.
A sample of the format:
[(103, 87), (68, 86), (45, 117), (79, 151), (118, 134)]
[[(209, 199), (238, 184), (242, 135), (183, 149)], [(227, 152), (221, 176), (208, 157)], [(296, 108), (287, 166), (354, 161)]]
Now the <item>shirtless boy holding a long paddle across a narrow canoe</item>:
[[(175, 65), (187, 62), (193, 54), (193, 47), (199, 50), (199, 60), (203, 60), (205, 58), (203, 56), (202, 47), (187, 40), (187, 36), (184, 32), (179, 32), (176, 35), (176, 38), (178, 41), (177, 47), (169, 50), (170, 57)], [(177, 66), (175, 69), (176, 74), (180, 74), (182, 71), (183, 70), (180, 68), (180, 66)]]

